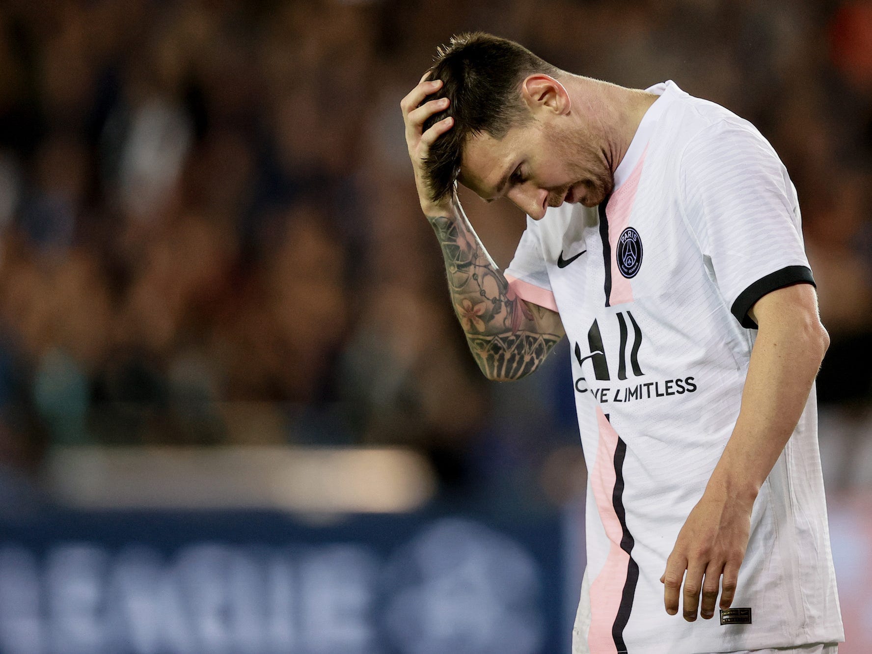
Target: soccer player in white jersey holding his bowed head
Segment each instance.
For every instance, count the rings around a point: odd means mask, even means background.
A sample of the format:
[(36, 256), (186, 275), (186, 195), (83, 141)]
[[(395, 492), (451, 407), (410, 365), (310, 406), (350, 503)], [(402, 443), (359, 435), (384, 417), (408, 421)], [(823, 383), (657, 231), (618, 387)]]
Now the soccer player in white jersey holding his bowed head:
[[(828, 335), (772, 146), (671, 81), (583, 78), (483, 33), (440, 48), (401, 106), (481, 370), (521, 378), (570, 340), (589, 470), (573, 651), (835, 652)], [(455, 182), (528, 214), (506, 271)]]

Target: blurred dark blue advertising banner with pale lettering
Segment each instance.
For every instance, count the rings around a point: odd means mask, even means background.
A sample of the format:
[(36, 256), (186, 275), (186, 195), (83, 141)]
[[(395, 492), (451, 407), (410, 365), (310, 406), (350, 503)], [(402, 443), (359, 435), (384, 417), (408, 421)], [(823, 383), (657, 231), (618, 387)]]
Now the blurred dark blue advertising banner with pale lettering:
[(568, 651), (572, 542), (559, 514), (44, 514), (0, 524), (0, 654)]

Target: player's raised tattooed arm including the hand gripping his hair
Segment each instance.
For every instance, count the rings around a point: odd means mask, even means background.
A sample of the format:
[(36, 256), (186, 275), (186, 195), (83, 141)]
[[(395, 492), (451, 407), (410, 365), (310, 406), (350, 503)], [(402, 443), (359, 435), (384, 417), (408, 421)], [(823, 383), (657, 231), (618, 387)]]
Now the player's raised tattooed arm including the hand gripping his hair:
[(563, 325), (556, 311), (528, 303), (509, 288), (506, 277), (475, 235), (456, 194), (438, 202), (430, 197), (422, 163), (433, 141), (453, 125), (447, 118), (422, 132), (426, 119), (446, 109), (446, 99), (421, 105), (439, 85), (438, 80), (426, 82), (422, 78), (400, 103), (421, 209), (439, 239), (454, 312), (481, 371), (488, 379), (520, 379), (535, 371), (560, 341)]

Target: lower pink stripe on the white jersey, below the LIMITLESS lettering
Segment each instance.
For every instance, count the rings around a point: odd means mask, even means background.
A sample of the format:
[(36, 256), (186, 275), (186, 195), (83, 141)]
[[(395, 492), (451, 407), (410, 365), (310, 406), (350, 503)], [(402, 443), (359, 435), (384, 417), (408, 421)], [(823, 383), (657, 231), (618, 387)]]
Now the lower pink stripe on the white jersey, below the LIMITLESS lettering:
[(621, 549), (623, 528), (615, 513), (612, 494), (615, 491), (615, 448), (617, 432), (596, 406), (596, 426), (599, 427), (599, 445), (596, 447), (596, 465), (590, 473), (590, 487), (596, 508), (609, 538), (609, 554), (596, 579), (590, 584), (590, 630), (588, 646), (596, 654), (617, 654), (617, 645), (611, 635), (617, 611), (621, 607), (623, 585), (627, 580), (630, 555)]

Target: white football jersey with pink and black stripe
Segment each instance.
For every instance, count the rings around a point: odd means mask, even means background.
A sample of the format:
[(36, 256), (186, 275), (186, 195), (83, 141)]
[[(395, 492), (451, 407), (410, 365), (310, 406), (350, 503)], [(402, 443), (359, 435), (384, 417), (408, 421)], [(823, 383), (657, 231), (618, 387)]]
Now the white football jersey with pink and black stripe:
[(757, 129), (673, 82), (599, 208), (528, 218), (506, 271), (560, 312), (589, 479), (576, 654), (843, 640), (814, 388), (754, 504), (733, 609), (688, 623), (660, 576), (739, 415), (766, 293), (812, 283), (794, 185)]

